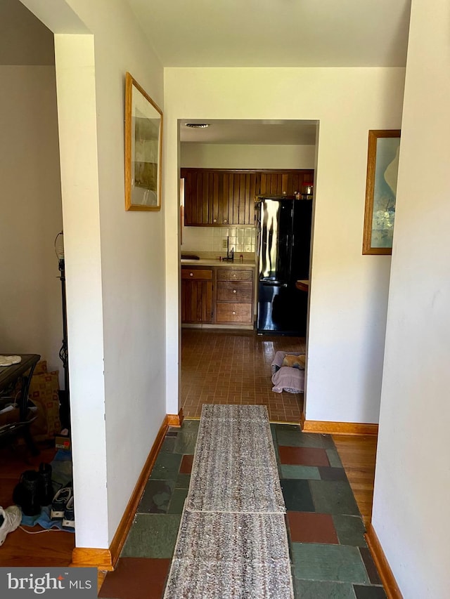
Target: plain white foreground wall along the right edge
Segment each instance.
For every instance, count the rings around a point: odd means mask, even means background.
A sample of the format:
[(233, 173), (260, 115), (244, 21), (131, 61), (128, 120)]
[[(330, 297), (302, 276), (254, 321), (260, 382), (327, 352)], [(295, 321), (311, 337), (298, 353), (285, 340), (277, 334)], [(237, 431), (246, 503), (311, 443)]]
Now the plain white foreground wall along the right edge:
[(373, 501), (407, 599), (449, 596), (449, 22), (413, 0)]

